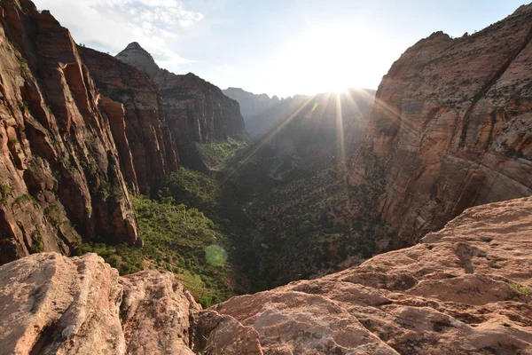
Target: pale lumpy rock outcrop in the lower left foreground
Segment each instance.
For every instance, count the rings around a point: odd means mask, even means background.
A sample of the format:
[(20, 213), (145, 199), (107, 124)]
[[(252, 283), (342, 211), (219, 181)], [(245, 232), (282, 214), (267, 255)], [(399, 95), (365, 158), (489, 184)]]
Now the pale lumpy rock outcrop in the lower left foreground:
[(119, 277), (96, 254), (39, 253), (1, 266), (0, 285), (3, 355), (262, 354), (253, 328), (201, 312), (169, 272)]

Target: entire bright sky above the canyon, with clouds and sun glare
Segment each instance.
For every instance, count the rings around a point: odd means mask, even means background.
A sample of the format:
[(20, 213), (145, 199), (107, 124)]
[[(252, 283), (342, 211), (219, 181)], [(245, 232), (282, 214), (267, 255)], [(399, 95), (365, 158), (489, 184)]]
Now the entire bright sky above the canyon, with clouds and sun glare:
[(522, 0), (34, 0), (77, 43), (138, 42), (160, 67), (270, 96), (377, 89), (419, 39), (481, 30)]

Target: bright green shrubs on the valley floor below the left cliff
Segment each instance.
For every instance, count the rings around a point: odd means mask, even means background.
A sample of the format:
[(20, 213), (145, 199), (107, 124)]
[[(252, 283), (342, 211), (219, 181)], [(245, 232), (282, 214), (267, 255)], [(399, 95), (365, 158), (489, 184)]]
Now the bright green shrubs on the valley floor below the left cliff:
[(227, 286), (225, 264), (209, 264), (207, 250), (212, 245), (227, 248), (228, 241), (216, 225), (198, 209), (170, 201), (133, 197), (140, 237), (145, 248), (125, 244), (83, 244), (78, 255), (94, 252), (116, 267), (121, 274), (155, 268), (176, 273), (184, 287), (208, 307), (232, 295)]

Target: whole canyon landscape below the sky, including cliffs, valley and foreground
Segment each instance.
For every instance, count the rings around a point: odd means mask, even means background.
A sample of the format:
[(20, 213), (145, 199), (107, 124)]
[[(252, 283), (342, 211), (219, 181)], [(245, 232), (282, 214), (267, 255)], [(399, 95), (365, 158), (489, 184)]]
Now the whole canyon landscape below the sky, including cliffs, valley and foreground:
[(531, 18), (278, 100), (4, 0), (0, 354), (532, 354)]

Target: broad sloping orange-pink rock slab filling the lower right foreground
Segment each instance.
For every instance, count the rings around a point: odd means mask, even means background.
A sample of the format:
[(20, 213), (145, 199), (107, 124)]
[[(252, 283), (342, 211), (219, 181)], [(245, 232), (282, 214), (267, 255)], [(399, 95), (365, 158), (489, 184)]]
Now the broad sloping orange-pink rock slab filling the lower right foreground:
[(264, 354), (531, 354), (531, 288), (527, 198), (467, 209), (415, 247), (212, 310), (256, 330)]

